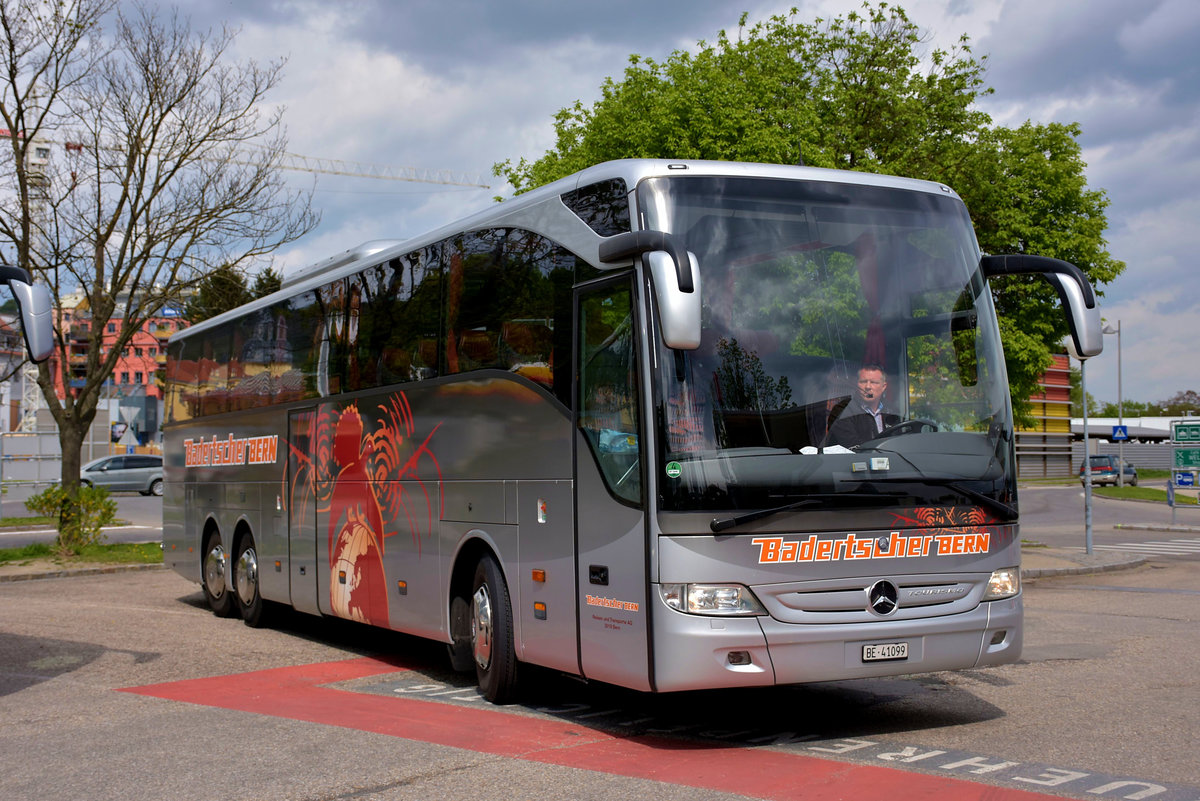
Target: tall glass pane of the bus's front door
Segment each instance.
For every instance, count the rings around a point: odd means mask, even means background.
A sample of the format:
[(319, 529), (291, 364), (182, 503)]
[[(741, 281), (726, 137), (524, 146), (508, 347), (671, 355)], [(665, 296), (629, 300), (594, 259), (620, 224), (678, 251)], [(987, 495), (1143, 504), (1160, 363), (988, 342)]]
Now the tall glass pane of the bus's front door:
[(629, 283), (580, 300), (580, 428), (608, 489), (641, 504), (637, 341)]

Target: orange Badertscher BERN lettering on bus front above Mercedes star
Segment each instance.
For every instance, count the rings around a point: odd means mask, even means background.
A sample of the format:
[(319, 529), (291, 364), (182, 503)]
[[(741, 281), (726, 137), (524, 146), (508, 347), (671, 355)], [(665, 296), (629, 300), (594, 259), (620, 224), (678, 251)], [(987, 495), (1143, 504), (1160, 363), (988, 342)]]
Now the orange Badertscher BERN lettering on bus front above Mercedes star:
[(958, 556), (985, 554), (991, 544), (989, 531), (947, 531), (941, 534), (914, 534), (905, 536), (893, 531), (882, 542), (877, 538), (847, 534), (841, 540), (785, 540), (784, 537), (755, 537), (758, 546), (758, 564), (776, 562), (836, 562), (856, 559), (908, 559), (914, 556)]

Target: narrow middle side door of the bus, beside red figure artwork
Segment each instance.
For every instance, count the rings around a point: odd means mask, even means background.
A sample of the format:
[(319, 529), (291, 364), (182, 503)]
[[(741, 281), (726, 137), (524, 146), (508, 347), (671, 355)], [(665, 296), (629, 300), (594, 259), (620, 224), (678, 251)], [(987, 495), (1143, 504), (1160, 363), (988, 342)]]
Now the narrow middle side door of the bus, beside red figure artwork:
[(314, 409), (288, 412), (288, 562), (292, 606), (319, 615), (317, 602), (317, 494), (313, 476)]

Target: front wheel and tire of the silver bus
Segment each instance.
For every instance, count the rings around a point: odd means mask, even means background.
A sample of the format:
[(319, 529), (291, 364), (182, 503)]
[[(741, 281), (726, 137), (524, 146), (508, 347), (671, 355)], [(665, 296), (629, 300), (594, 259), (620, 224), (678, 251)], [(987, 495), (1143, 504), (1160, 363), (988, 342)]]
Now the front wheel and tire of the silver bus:
[(512, 603), (500, 566), (484, 556), (475, 567), (470, 594), (470, 646), (484, 698), (508, 704), (517, 693), (517, 657), (512, 643)]

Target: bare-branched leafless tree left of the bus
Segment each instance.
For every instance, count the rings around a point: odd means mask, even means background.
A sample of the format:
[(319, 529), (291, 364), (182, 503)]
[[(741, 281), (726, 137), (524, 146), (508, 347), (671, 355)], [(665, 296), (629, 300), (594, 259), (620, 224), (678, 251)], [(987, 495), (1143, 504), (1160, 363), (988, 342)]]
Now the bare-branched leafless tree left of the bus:
[(38, 366), (72, 502), (83, 438), (134, 333), (211, 270), (317, 223), (282, 179), (280, 113), (263, 110), (283, 65), (234, 60), (234, 40), (140, 1), (0, 0), (0, 246), (56, 308), (82, 289), (90, 318), (60, 326)]

